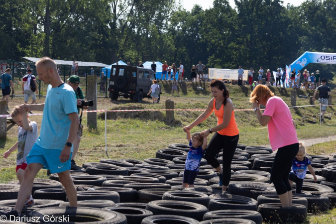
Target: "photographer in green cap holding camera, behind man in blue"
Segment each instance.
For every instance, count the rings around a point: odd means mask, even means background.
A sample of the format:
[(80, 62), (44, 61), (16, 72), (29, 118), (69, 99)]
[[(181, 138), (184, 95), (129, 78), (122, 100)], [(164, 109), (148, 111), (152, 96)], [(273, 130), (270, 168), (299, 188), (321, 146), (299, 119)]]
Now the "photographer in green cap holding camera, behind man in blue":
[(68, 79), (68, 84), (74, 89), (75, 94), (76, 94), (77, 110), (78, 110), (78, 116), (79, 116), (79, 119), (80, 119), (77, 135), (76, 135), (74, 143), (73, 143), (74, 151), (73, 151), (72, 157), (71, 157), (71, 165), (76, 165), (76, 163), (74, 161), (74, 158), (75, 158), (76, 153), (78, 151), (79, 143), (81, 141), (81, 136), (83, 134), (82, 133), (83, 132), (82, 116), (80, 115), (80, 112), (81, 112), (81, 109), (83, 109), (83, 110), (87, 110), (88, 109), (87, 106), (82, 106), (82, 102), (85, 102), (85, 100), (84, 100), (83, 91), (79, 87), (79, 83), (80, 83), (80, 79), (76, 75), (70, 76), (70, 78)]

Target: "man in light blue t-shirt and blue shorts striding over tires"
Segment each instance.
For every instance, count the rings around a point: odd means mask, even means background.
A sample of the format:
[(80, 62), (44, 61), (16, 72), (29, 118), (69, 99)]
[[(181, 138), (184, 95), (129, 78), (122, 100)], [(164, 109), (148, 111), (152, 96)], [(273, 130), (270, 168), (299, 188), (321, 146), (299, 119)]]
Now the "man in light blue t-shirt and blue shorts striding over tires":
[(0, 215), (18, 217), (26, 198), (31, 194), (36, 174), (42, 168), (57, 173), (65, 188), (71, 207), (77, 207), (77, 192), (70, 177), (72, 143), (76, 137), (79, 117), (73, 88), (63, 83), (56, 63), (48, 58), (36, 62), (36, 72), (43, 83), (47, 83), (45, 104), (23, 104), (20, 109), (43, 111), (40, 136), (30, 150), (27, 168), (20, 186), (15, 207)]

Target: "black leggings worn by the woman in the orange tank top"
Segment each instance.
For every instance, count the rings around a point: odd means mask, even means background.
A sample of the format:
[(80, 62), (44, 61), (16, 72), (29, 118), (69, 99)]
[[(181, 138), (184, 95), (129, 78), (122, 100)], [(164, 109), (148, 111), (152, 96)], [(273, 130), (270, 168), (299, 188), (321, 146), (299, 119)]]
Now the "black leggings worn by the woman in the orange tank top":
[[(239, 134), (234, 136), (221, 135), (215, 133), (210, 140), (207, 150), (205, 151), (204, 158), (208, 164), (217, 168), (220, 162), (216, 159), (218, 154), (223, 148), (223, 185), (228, 186), (231, 178), (231, 162), (233, 159), (235, 148), (237, 147)], [(296, 155), (296, 154), (295, 154)], [(288, 177), (288, 176), (287, 176)]]

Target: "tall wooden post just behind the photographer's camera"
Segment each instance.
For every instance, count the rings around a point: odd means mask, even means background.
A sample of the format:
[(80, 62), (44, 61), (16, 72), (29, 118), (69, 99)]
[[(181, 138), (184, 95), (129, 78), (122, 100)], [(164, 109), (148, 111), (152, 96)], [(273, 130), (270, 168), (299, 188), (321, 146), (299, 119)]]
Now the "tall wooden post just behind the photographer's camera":
[[(97, 110), (97, 76), (87, 76), (88, 80), (88, 101), (93, 101), (93, 107), (89, 107), (88, 111), (96, 111)], [(97, 112), (89, 112), (88, 113), (88, 127), (97, 128)]]

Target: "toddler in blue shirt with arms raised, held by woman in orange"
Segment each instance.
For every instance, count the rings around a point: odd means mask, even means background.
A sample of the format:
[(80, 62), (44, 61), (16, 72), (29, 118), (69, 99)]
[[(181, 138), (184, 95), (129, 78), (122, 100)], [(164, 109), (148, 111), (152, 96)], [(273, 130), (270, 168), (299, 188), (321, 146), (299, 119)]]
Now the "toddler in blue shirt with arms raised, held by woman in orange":
[(192, 136), (190, 136), (190, 131), (188, 129), (186, 132), (190, 149), (184, 168), (182, 187), (193, 188), (196, 176), (200, 170), (201, 159), (208, 144), (208, 138), (202, 137), (200, 132), (196, 132)]

